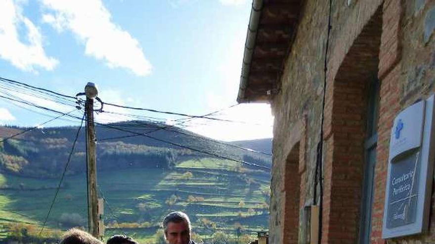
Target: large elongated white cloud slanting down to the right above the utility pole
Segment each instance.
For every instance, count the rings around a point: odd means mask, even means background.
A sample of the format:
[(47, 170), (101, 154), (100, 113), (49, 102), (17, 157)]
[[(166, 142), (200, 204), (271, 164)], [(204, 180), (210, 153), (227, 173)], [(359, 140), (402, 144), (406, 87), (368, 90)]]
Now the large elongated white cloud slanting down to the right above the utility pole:
[(101, 0), (42, 0), (54, 13), (43, 21), (57, 31), (69, 30), (85, 43), (85, 53), (110, 68), (126, 68), (144, 76), (151, 72), (138, 41), (111, 20)]

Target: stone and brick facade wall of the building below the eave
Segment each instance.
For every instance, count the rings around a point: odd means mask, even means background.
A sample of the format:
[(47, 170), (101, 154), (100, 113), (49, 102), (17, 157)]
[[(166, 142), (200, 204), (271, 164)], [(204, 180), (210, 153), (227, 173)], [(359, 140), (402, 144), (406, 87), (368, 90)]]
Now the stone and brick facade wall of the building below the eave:
[[(322, 243), (358, 242), (364, 94), (369, 80), (376, 76), (381, 82), (381, 101), (371, 242), (385, 243), (381, 238), (382, 217), (392, 119), (405, 106), (435, 91), (435, 1), (333, 1), (331, 12), (323, 124)], [(307, 228), (304, 206), (319, 202), (318, 188), (314, 198), (313, 179), (320, 139), (328, 14), (327, 0), (307, 0), (304, 4), (280, 92), (272, 100), (275, 122), (270, 243), (296, 243), (295, 233), (286, 234), (289, 228), (297, 228), (289, 226), (295, 225), (294, 220), (299, 221), (301, 242)], [(294, 156), (295, 151), (299, 157)], [(292, 202), (291, 194), (298, 194), (290, 190), (295, 187), (295, 179), (300, 179), (299, 196), (295, 196), (300, 202), (299, 214), (286, 205)], [(391, 243), (434, 243), (434, 222), (431, 216), (428, 234)]]

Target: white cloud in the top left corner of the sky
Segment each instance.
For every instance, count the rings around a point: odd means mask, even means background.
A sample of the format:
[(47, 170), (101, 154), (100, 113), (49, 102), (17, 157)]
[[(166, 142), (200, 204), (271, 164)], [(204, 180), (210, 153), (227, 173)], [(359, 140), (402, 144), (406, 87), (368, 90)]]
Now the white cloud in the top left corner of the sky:
[[(28, 43), (20, 41), (20, 27), (25, 27)], [(0, 58), (20, 70), (36, 72), (36, 67), (53, 70), (58, 61), (45, 54), (42, 39), (39, 29), (22, 15), (17, 2), (0, 1)]]

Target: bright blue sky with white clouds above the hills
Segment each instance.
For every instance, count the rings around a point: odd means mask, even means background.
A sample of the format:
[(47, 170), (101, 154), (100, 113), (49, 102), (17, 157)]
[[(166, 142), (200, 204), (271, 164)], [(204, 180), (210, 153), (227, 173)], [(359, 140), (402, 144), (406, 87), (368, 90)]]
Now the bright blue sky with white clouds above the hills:
[[(191, 115), (223, 109), (213, 117), (235, 122), (195, 119), (183, 126), (225, 141), (271, 138), (270, 105), (228, 108), (237, 103), (250, 11), (250, 0), (0, 0), (0, 77), (71, 96), (93, 82), (102, 101), (119, 105)], [(180, 118), (105, 110), (117, 114), (99, 113), (97, 122), (134, 118), (119, 113), (167, 124)], [(48, 115), (56, 116), (0, 99), (2, 125), (37, 126)], [(78, 123), (62, 118), (44, 126)]]

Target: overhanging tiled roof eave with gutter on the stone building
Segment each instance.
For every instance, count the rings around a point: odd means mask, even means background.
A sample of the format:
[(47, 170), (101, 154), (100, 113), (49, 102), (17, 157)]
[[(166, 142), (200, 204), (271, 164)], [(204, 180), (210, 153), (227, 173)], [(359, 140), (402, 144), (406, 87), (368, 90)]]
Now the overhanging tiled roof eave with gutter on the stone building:
[(295, 35), (302, 0), (253, 0), (237, 102), (268, 102)]

